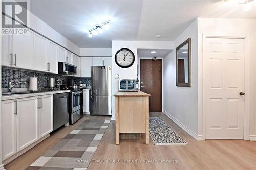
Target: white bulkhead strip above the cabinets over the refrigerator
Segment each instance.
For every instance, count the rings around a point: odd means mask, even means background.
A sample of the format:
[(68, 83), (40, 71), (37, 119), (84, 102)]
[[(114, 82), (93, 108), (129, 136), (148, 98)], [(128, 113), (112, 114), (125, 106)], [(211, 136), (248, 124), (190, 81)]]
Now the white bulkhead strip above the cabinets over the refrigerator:
[(111, 48), (80, 48), (80, 56), (110, 57), (111, 56)]

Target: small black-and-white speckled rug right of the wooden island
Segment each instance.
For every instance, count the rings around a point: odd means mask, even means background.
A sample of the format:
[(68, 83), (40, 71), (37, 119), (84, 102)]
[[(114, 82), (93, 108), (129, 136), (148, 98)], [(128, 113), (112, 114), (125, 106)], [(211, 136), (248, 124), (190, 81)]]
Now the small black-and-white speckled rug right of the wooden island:
[(155, 145), (187, 145), (160, 117), (150, 117), (150, 136)]

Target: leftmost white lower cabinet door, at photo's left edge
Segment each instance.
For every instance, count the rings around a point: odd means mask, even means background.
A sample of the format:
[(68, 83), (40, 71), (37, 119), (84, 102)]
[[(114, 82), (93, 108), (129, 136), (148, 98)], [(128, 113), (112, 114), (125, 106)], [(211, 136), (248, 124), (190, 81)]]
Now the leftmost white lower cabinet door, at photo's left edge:
[(9, 158), (16, 148), (16, 100), (2, 101), (2, 157)]

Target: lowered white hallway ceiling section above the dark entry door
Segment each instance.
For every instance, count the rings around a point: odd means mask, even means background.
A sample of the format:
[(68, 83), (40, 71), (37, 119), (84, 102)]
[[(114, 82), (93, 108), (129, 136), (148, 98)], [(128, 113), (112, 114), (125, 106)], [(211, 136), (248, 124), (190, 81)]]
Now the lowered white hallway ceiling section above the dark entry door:
[[(151, 53), (152, 51), (155, 51), (156, 53)], [(169, 54), (172, 50), (169, 49), (138, 49), (137, 55), (139, 58), (142, 57), (165, 57), (167, 54)]]

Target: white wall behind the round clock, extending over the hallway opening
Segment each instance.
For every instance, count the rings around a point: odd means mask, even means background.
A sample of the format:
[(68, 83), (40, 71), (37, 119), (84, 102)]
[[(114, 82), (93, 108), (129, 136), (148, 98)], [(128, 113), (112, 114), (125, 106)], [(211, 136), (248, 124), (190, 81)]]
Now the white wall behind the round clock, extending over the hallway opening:
[[(134, 64), (129, 68), (121, 68), (115, 62), (115, 54), (121, 48), (129, 48), (135, 55)], [(137, 79), (137, 49), (174, 49), (173, 41), (112, 41), (112, 95), (118, 91), (118, 79)], [(115, 98), (112, 98), (112, 119), (115, 119)]]

